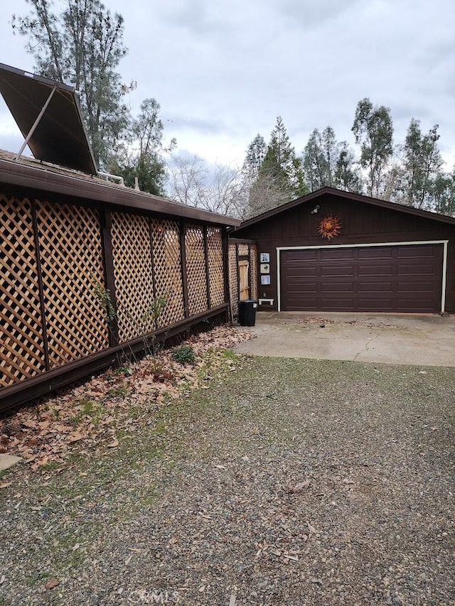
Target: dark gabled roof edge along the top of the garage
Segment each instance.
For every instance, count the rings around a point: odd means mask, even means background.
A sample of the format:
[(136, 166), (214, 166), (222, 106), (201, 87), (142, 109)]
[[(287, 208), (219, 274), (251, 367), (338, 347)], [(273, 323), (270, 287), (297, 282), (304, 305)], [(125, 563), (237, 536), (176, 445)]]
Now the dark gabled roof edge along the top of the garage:
[(413, 208), (411, 206), (404, 206), (402, 204), (397, 204), (396, 202), (388, 202), (387, 200), (380, 200), (379, 198), (370, 198), (367, 195), (362, 195), (358, 193), (346, 192), (344, 190), (337, 190), (335, 188), (321, 188), (320, 190), (316, 190), (315, 192), (311, 192), (307, 195), (301, 196), (301, 198), (296, 198), (296, 200), (291, 200), (291, 202), (287, 202), (286, 204), (282, 204), (277, 208), (273, 208), (272, 210), (267, 210), (267, 212), (262, 212), (261, 215), (257, 215), (257, 217), (252, 217), (246, 221), (243, 221), (239, 227), (237, 227), (236, 231), (240, 231), (244, 227), (250, 227), (250, 225), (255, 225), (261, 221), (269, 219), (269, 217), (274, 217), (275, 215), (279, 215), (282, 212), (286, 212), (287, 210), (291, 210), (296, 206), (301, 204), (305, 204), (310, 201), (317, 201), (321, 196), (331, 194), (336, 195), (338, 198), (348, 198), (349, 200), (358, 200), (358, 202), (365, 202), (366, 204), (370, 204), (373, 206), (380, 206), (383, 208), (388, 208), (390, 210), (397, 210), (398, 212), (406, 212), (409, 215), (417, 215), (417, 217), (424, 217), (425, 219), (430, 219), (432, 221), (441, 221), (443, 223), (450, 223), (455, 225), (455, 217), (447, 217), (446, 215), (439, 215), (436, 212), (429, 212), (428, 210), (420, 210), (419, 208)]

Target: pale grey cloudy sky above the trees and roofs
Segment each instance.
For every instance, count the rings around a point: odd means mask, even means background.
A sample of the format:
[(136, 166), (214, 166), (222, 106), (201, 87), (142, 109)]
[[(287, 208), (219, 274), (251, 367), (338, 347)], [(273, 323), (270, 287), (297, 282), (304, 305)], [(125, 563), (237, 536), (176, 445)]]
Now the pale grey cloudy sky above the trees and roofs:
[[(412, 117), (439, 124), (444, 158), (455, 161), (454, 0), (105, 0), (124, 16), (129, 48), (119, 66), (132, 112), (146, 97), (161, 104), (166, 137), (178, 151), (241, 163), (259, 132), (269, 139), (281, 115), (300, 153), (314, 128), (331, 125), (352, 141), (363, 97), (390, 107), (395, 143)], [(1, 0), (0, 63), (33, 70)], [(0, 102), (0, 148), (21, 144)]]

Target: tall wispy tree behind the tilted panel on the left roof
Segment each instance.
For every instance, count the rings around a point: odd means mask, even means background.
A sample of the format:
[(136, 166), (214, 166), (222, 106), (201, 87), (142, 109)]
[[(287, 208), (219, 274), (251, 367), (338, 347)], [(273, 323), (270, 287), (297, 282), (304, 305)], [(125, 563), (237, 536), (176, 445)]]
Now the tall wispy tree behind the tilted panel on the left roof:
[(79, 91), (95, 161), (104, 163), (129, 123), (123, 102), (129, 87), (117, 72), (127, 53), (123, 17), (112, 16), (100, 0), (58, 0), (58, 12), (48, 0), (28, 4), (27, 16), (13, 15), (14, 31), (28, 38), (39, 74)]

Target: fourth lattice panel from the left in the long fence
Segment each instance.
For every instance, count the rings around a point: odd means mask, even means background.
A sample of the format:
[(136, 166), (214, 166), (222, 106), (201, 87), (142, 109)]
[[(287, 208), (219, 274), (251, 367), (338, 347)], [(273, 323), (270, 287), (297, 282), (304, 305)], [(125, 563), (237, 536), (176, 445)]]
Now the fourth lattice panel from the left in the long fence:
[(166, 307), (157, 320), (158, 327), (162, 327), (185, 318), (178, 223), (152, 219), (151, 242), (155, 296), (166, 297)]

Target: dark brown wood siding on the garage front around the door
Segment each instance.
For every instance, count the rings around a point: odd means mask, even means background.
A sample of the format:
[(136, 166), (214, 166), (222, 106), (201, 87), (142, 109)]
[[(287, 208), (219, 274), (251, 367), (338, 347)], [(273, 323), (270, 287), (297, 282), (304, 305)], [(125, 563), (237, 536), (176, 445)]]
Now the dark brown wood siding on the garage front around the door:
[[(312, 214), (316, 205), (319, 211)], [(325, 215), (336, 215), (341, 220), (341, 234), (331, 242), (318, 234), (319, 221)], [(447, 240), (446, 311), (455, 311), (455, 226), (452, 224), (410, 215), (350, 200), (334, 194), (323, 194), (316, 200), (284, 210), (274, 217), (237, 229), (235, 237), (250, 238), (257, 242), (258, 253), (269, 252), (269, 286), (259, 283), (259, 298), (273, 298), (272, 309), (277, 309), (277, 248), (320, 247), (339, 244), (392, 244), (397, 242), (428, 242)]]

